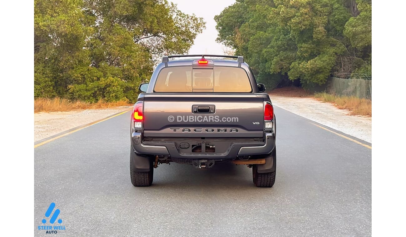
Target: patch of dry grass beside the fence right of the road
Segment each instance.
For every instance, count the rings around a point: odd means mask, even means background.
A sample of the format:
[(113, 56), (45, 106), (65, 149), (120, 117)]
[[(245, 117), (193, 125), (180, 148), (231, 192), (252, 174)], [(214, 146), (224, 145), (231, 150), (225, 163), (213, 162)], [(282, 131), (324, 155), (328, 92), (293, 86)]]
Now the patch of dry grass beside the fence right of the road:
[(324, 102), (333, 103), (339, 109), (349, 109), (353, 115), (372, 116), (372, 100), (355, 96), (336, 96), (326, 92), (317, 93), (314, 97)]

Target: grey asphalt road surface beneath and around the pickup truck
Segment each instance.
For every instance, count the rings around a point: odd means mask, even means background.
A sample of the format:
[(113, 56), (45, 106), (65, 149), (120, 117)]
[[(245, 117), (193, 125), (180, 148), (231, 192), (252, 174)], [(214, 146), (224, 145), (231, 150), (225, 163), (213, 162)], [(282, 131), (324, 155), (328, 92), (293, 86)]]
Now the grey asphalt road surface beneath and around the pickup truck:
[(35, 148), (35, 236), (49, 236), (38, 226), (52, 202), (57, 236), (371, 236), (371, 149), (275, 114), (272, 188), (255, 187), (244, 165), (176, 163), (132, 186), (130, 113)]

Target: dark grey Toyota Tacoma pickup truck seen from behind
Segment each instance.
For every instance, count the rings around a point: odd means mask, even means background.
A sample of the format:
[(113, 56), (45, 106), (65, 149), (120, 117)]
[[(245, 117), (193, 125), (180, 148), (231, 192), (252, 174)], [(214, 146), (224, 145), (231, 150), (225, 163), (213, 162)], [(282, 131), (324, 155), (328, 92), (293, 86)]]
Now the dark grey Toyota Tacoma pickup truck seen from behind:
[(274, 185), (275, 115), (243, 57), (164, 56), (139, 90), (131, 115), (134, 186), (150, 186), (154, 168), (169, 162), (246, 164), (255, 186)]

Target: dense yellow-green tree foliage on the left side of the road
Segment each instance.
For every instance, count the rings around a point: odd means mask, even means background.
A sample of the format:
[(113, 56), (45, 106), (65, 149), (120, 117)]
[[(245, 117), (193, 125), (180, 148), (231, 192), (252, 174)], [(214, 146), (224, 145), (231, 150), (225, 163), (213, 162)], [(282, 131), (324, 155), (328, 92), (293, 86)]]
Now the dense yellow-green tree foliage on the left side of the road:
[(35, 0), (35, 97), (136, 100), (158, 56), (205, 28), (166, 0)]

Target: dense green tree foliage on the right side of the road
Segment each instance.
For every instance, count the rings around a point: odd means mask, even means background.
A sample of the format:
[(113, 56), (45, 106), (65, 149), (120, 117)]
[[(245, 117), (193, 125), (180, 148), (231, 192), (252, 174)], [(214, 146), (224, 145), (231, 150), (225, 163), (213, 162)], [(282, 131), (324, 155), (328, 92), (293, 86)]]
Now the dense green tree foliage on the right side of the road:
[(322, 84), (331, 71), (371, 74), (370, 0), (237, 0), (214, 19), (217, 41), (268, 88)]

